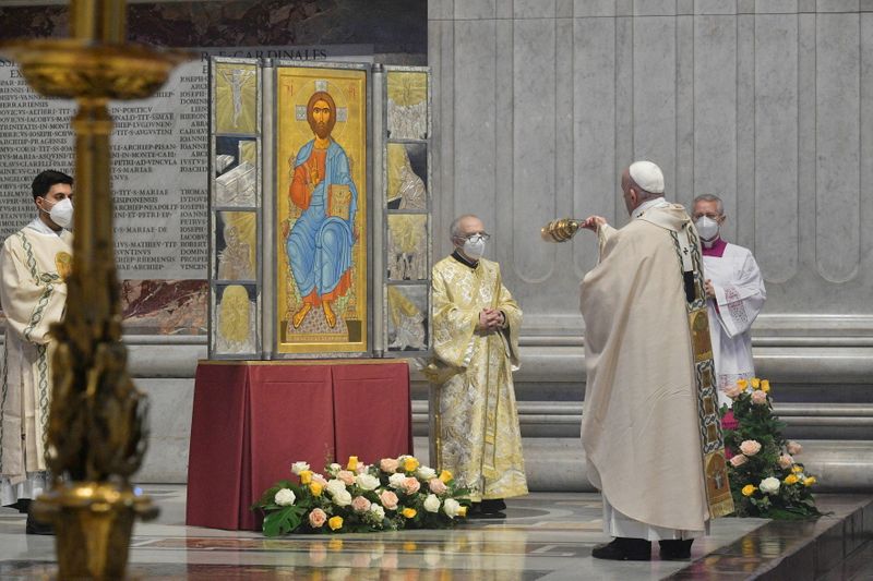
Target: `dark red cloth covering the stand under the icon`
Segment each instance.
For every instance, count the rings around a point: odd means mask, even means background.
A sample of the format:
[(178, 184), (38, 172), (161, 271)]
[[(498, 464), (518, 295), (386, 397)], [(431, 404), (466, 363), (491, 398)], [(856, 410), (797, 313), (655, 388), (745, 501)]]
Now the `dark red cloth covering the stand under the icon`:
[(412, 453), (405, 361), (201, 361), (188, 459), (186, 524), (258, 530), (249, 510), (303, 460)]

